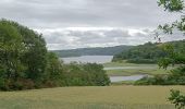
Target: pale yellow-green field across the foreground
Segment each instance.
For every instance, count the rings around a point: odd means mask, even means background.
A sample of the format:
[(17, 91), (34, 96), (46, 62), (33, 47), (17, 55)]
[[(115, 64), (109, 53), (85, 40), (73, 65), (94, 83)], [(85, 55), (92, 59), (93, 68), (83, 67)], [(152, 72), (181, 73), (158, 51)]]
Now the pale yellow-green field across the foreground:
[(184, 86), (60, 87), (0, 92), (0, 109), (174, 109), (171, 88)]

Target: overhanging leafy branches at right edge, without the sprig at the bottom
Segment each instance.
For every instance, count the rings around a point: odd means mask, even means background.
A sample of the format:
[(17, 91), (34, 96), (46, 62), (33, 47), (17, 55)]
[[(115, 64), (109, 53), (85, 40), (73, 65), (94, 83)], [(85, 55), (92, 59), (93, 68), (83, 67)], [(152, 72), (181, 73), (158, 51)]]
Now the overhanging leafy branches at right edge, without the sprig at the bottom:
[[(178, 29), (180, 32), (185, 32), (185, 4), (183, 0), (158, 0), (158, 4), (163, 7), (165, 11), (169, 12), (177, 12), (182, 14), (181, 20), (176, 20), (172, 24), (164, 24), (159, 25), (159, 29), (162, 31), (164, 34), (173, 34), (174, 29)], [(157, 35), (158, 38), (160, 38)], [(172, 45), (164, 45), (164, 50), (168, 52), (168, 57), (162, 59), (159, 64), (160, 66), (166, 68), (170, 64), (185, 64), (185, 50), (182, 49), (181, 51), (176, 52)]]

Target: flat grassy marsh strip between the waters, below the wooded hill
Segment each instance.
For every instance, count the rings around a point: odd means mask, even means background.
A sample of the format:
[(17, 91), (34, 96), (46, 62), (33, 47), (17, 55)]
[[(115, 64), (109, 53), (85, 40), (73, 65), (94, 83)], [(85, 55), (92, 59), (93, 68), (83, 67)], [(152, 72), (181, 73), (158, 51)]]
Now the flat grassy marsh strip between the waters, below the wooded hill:
[(126, 76), (126, 75), (135, 75), (135, 74), (168, 74), (172, 66), (164, 69), (159, 69), (157, 64), (135, 64), (135, 63), (119, 63), (119, 62), (109, 62), (103, 64), (104, 68), (114, 68), (114, 66), (132, 66), (134, 69), (115, 69), (115, 70), (107, 70), (109, 76)]

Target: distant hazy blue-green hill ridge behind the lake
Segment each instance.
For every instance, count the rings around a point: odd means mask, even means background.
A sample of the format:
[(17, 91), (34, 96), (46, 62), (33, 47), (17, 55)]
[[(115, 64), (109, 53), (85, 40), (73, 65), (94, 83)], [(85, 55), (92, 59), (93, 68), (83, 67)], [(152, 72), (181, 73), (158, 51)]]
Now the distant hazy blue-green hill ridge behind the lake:
[(79, 56), (113, 56), (121, 51), (128, 50), (133, 46), (115, 46), (115, 47), (97, 47), (97, 48), (78, 48), (71, 50), (52, 50), (59, 57), (79, 57)]

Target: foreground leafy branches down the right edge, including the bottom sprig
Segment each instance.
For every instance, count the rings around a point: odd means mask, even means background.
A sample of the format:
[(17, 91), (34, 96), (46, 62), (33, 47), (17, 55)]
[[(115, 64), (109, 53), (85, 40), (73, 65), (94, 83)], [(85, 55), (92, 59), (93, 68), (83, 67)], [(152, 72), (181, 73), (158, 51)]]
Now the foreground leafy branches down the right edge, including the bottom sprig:
[[(172, 24), (159, 25), (159, 29), (162, 29), (164, 34), (173, 34), (174, 29), (178, 29), (183, 34), (185, 34), (185, 4), (183, 0), (159, 0), (160, 7), (163, 7), (165, 11), (169, 12), (177, 12), (181, 15), (180, 20), (176, 20)], [(158, 36), (157, 36), (158, 37)], [(158, 37), (159, 38), (159, 37)], [(160, 38), (159, 38), (160, 39)], [(181, 73), (184, 75), (185, 73), (185, 56), (184, 50), (182, 52), (176, 52), (171, 45), (165, 47), (169, 52), (169, 57), (163, 59), (160, 62), (160, 65), (166, 68), (169, 64), (182, 64), (181, 71), (176, 73)], [(181, 74), (178, 77), (181, 77)], [(172, 104), (175, 104), (177, 109), (182, 109), (185, 106), (185, 96), (180, 94), (180, 90), (171, 90), (171, 97), (169, 98)]]

